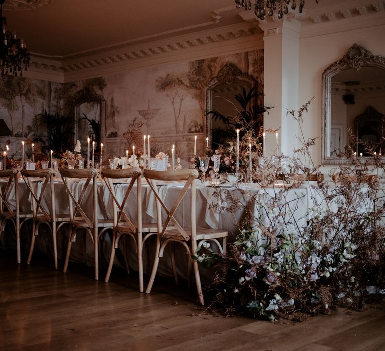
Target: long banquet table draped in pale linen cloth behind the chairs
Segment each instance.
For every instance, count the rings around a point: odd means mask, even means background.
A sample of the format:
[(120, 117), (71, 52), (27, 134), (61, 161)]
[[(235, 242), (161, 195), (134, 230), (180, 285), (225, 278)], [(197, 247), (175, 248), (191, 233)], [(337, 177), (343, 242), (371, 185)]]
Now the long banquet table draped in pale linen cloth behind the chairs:
[[(73, 187), (77, 187), (81, 189), (83, 186), (83, 181), (78, 180), (73, 182)], [(37, 182), (36, 186), (41, 187), (41, 182)], [(167, 205), (170, 205), (173, 199), (176, 199), (178, 193), (182, 189), (180, 183), (173, 182), (168, 184), (163, 184), (159, 187), (160, 196), (164, 199)], [(128, 187), (128, 183), (120, 183), (116, 185), (116, 192), (123, 196), (124, 190)], [(19, 181), (20, 188), (20, 209), (21, 211), (29, 211), (31, 209), (31, 198), (28, 195), (27, 187), (23, 181)], [(54, 189), (55, 189), (55, 203), (56, 203), (56, 212), (57, 213), (66, 213), (68, 212), (68, 195), (66, 194), (66, 190), (61, 179), (54, 180)], [(108, 189), (104, 183), (104, 181), (97, 182), (98, 189), (98, 214), (99, 218), (112, 218), (112, 198), (108, 192)], [(229, 192), (232, 195), (233, 199), (239, 202), (239, 205), (247, 205), (247, 202), (250, 200), (251, 195), (261, 194), (261, 196), (274, 196), (274, 193), (277, 189), (267, 189), (260, 188), (256, 184), (251, 185), (243, 185), (239, 188), (232, 187), (231, 185), (224, 185), (224, 187), (213, 188), (211, 186), (207, 186), (207, 184), (197, 183), (196, 187), (196, 216), (197, 216), (197, 226), (198, 227), (206, 227), (206, 228), (219, 228), (229, 231), (229, 240), (234, 240), (235, 235), (238, 233), (237, 223), (242, 219), (244, 214), (243, 206), (236, 206), (236, 211), (230, 213), (227, 209), (229, 204), (226, 203), (225, 194)], [(87, 197), (88, 196), (88, 197)], [(137, 187), (134, 186), (131, 194), (127, 200), (125, 210), (129, 217), (133, 220), (137, 216), (136, 209), (136, 196), (137, 196)], [(289, 190), (289, 196), (292, 198), (299, 198), (296, 203), (296, 206), (300, 209), (299, 213), (305, 215), (311, 206), (310, 202), (311, 196), (309, 192), (309, 187), (300, 187), (296, 189)], [(12, 197), (12, 194), (11, 194)], [(91, 193), (86, 195), (85, 201), (91, 202)], [(49, 206), (50, 204), (50, 194), (49, 191), (46, 191), (45, 197), (43, 199), (43, 203), (45, 206)], [(234, 204), (233, 204), (234, 205)], [(142, 208), (143, 208), (143, 222), (156, 222), (156, 208), (155, 208), (155, 197), (151, 192), (151, 189), (148, 184), (143, 182), (142, 184)], [(258, 217), (259, 209), (254, 206), (254, 215)], [(190, 226), (190, 202), (188, 197), (185, 198), (178, 208), (178, 211), (175, 213), (175, 218), (181, 223), (184, 227)], [(24, 247), (28, 246), (29, 240), (27, 240), (27, 236), (29, 236), (30, 231), (26, 231), (28, 227), (25, 227), (25, 230), (22, 230), (22, 238), (24, 239)], [(24, 233), (23, 233), (24, 232)], [(26, 233), (27, 232), (27, 233)], [(58, 256), (59, 258), (63, 258), (65, 255), (65, 250), (67, 246), (67, 232), (68, 226), (63, 226), (58, 233)], [(71, 261), (84, 262), (87, 264), (93, 264), (93, 245), (90, 242), (89, 238), (86, 238), (85, 235), (77, 235), (76, 243), (72, 246), (71, 251)], [(23, 240), (22, 239), (22, 240)], [(131, 239), (129, 239), (131, 240)], [(131, 245), (130, 245), (131, 244)], [(154, 245), (153, 241), (150, 240), (149, 248), (144, 252), (143, 260), (144, 260), (144, 268), (145, 271), (150, 272), (152, 267), (153, 255), (154, 255)], [(22, 242), (23, 245), (23, 242)], [(130, 266), (137, 270), (137, 261), (135, 249), (132, 241), (129, 241), (129, 263)], [(23, 247), (23, 246), (22, 246)], [(52, 252), (52, 240), (50, 235), (39, 235), (36, 241), (36, 247), (41, 251), (49, 251)], [(107, 234), (104, 236), (103, 240), (103, 252), (101, 256), (104, 256), (105, 262), (108, 262), (110, 257), (111, 250), (111, 239)], [(118, 250), (119, 251), (119, 250)], [(22, 257), (22, 260), (25, 260), (25, 257)], [(180, 262), (185, 262), (184, 265), (178, 265), (178, 274), (186, 277), (187, 275), (187, 256), (185, 255), (184, 249), (180, 247), (180, 250), (176, 252), (176, 259)], [(32, 261), (33, 263), (33, 261)], [(116, 265), (123, 266), (123, 259), (121, 254), (117, 254)], [(160, 261), (158, 274), (161, 275), (171, 275), (171, 260), (169, 253), (165, 252), (163, 259)], [(202, 276), (205, 280), (206, 278), (210, 278), (212, 276), (212, 270), (202, 267)], [(113, 272), (112, 272), (113, 277)]]

